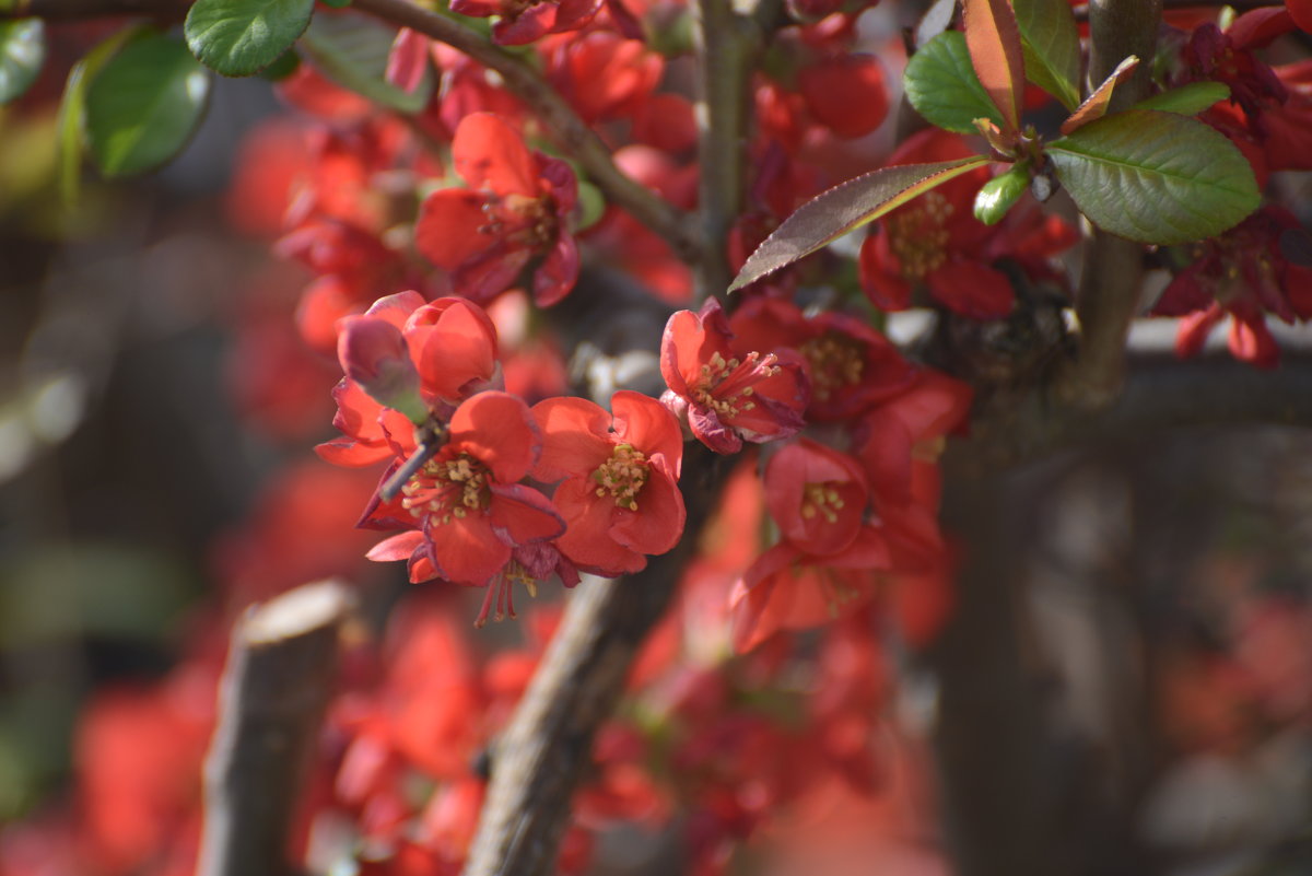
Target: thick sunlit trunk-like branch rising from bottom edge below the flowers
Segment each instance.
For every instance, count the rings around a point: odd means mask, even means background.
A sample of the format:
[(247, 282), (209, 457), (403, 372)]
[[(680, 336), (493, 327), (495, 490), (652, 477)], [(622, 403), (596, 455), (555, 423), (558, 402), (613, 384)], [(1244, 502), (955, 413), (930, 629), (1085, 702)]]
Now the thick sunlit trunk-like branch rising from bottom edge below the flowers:
[(464, 876), (546, 876), (590, 763), (647, 632), (669, 605), (719, 492), (722, 459), (691, 445), (681, 488), (678, 546), (638, 574), (580, 584), (514, 719), (492, 754), (492, 780)]

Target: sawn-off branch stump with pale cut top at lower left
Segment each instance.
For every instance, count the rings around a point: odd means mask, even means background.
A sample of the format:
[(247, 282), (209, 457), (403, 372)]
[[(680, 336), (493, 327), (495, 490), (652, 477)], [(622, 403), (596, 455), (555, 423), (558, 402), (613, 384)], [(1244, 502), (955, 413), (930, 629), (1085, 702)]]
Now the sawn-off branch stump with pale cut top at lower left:
[(205, 761), (198, 876), (287, 876), (287, 837), (332, 692), (349, 590), (321, 581), (251, 610), (232, 633)]

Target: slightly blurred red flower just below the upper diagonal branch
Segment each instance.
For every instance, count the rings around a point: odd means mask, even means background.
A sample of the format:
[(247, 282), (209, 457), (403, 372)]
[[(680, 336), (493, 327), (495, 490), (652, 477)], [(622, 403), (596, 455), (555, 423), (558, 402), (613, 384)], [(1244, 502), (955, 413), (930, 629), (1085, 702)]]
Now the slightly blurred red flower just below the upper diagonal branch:
[(419, 250), (475, 300), (505, 291), (541, 257), (534, 300), (546, 307), (564, 298), (579, 278), (579, 249), (565, 228), (579, 195), (569, 165), (530, 152), (491, 113), (461, 121), (451, 157), (470, 188), (442, 189), (424, 201), (415, 227)]

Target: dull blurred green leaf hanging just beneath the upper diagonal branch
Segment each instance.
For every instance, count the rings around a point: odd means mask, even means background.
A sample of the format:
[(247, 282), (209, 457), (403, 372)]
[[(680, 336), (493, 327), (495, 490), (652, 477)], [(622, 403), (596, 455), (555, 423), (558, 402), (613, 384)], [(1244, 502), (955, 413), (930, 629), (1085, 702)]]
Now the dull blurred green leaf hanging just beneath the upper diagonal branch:
[(428, 106), (436, 79), (433, 71), (407, 93), (386, 79), (387, 56), (396, 30), (354, 12), (316, 16), (302, 37), (300, 45), (311, 60), (329, 79), (375, 104), (403, 113), (419, 113)]

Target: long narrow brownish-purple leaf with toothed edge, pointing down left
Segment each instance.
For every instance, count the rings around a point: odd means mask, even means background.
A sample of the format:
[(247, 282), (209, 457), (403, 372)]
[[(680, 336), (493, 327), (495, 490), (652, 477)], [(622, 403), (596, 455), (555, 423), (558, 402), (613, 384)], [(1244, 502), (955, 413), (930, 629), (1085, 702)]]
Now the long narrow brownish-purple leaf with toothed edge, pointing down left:
[(849, 231), (896, 210), (916, 195), (988, 163), (985, 156), (977, 155), (956, 161), (905, 164), (866, 173), (821, 191), (798, 207), (756, 248), (728, 291), (754, 283)]

